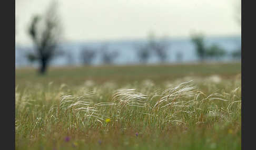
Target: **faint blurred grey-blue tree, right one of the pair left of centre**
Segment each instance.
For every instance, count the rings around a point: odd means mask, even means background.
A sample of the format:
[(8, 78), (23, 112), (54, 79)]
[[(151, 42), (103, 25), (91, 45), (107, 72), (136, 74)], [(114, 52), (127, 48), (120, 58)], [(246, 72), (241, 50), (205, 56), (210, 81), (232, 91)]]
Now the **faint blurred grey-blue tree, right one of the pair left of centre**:
[(115, 58), (119, 55), (118, 51), (110, 51), (108, 45), (103, 45), (101, 47), (102, 61), (105, 64), (111, 64), (114, 62)]

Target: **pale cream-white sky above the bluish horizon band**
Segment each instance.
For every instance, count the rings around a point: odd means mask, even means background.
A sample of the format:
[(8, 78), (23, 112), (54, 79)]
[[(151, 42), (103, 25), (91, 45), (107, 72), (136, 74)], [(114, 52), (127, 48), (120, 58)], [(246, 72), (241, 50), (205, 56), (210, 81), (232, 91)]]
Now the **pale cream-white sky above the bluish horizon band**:
[[(31, 44), (26, 31), (31, 17), (51, 0), (16, 0), (16, 42)], [(97, 41), (156, 37), (241, 35), (235, 0), (59, 0), (64, 41)], [(241, 2), (241, 1), (239, 1)]]

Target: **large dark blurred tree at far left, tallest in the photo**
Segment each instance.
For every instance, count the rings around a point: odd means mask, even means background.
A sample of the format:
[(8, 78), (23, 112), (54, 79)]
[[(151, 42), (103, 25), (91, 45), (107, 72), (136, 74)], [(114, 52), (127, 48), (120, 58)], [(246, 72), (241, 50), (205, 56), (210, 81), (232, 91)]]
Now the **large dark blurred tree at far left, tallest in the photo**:
[(28, 34), (34, 42), (35, 52), (28, 53), (29, 60), (40, 63), (39, 72), (44, 74), (50, 60), (60, 54), (57, 50), (60, 40), (61, 26), (56, 12), (56, 2), (51, 3), (44, 16), (35, 15), (29, 27)]

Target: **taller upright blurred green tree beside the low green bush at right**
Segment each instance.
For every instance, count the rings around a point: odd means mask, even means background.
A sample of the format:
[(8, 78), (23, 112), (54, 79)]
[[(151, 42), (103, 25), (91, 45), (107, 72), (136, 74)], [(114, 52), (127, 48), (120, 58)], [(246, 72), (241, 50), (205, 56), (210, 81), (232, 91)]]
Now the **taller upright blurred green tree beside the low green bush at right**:
[(206, 55), (206, 48), (204, 46), (203, 38), (204, 37), (202, 34), (195, 34), (195, 35), (192, 35), (191, 37), (191, 40), (196, 48), (196, 53), (201, 61), (205, 59), (205, 55)]

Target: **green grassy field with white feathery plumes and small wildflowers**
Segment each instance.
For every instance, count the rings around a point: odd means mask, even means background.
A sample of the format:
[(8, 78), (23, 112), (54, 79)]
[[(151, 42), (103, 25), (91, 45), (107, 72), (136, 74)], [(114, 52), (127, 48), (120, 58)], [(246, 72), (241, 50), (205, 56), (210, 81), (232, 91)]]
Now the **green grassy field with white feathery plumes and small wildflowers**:
[(16, 149), (241, 149), (241, 63), (15, 76)]

